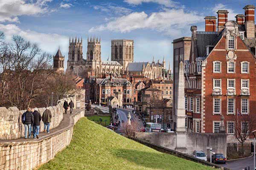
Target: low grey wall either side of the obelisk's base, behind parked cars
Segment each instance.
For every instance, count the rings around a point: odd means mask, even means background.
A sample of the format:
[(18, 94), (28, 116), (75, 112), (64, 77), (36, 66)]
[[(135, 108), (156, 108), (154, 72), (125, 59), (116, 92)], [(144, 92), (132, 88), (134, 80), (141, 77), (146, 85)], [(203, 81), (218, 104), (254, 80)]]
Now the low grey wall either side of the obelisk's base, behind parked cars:
[[(166, 147), (175, 150), (177, 135), (176, 133), (145, 133), (137, 132), (135, 138), (150, 142), (157, 146)], [(194, 150), (203, 150), (209, 157), (212, 152), (223, 153), (227, 155), (227, 135), (221, 133), (186, 133), (187, 153), (192, 155)]]

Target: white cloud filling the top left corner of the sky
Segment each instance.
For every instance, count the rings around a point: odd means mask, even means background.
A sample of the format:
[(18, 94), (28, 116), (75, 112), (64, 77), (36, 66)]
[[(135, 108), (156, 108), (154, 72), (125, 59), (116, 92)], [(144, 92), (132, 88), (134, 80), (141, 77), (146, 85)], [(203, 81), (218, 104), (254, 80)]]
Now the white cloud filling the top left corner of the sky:
[(0, 0), (0, 22), (19, 22), (18, 16), (35, 15), (47, 12), (47, 3), (52, 0)]

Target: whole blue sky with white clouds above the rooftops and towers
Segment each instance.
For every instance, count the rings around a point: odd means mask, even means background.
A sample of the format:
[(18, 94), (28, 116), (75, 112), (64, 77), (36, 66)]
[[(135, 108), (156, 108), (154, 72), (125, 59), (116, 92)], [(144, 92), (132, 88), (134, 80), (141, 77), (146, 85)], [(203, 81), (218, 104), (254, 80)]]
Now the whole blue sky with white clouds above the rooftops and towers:
[[(101, 37), (102, 60), (111, 57), (111, 39), (134, 40), (134, 61), (163, 57), (172, 68), (172, 41), (191, 36), (190, 26), (204, 31), (204, 17), (229, 11), (244, 14), (255, 0), (0, 0), (0, 31), (10, 42), (19, 34), (54, 55), (61, 49), (67, 62), (69, 37)], [(67, 65), (65, 62), (65, 65)]]

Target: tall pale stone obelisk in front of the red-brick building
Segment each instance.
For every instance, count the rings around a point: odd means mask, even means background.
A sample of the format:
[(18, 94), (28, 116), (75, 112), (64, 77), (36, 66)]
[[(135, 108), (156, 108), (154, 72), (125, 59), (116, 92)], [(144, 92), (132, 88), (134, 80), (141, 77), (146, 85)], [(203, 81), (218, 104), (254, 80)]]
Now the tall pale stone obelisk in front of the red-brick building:
[(184, 64), (180, 62), (179, 68), (179, 84), (178, 84), (178, 101), (176, 108), (176, 148), (175, 150), (181, 153), (187, 153), (186, 148), (186, 128), (185, 128), (185, 92), (184, 92)]

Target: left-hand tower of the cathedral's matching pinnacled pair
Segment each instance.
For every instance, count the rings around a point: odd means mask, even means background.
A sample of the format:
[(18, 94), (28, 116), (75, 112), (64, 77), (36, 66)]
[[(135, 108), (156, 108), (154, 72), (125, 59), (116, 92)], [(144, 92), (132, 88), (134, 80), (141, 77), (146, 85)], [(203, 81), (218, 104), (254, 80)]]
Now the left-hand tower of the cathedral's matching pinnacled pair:
[(83, 45), (82, 38), (81, 41), (77, 37), (69, 40), (69, 52), (68, 52), (68, 60), (67, 60), (67, 71), (74, 72), (76, 71), (76, 62), (83, 58)]

